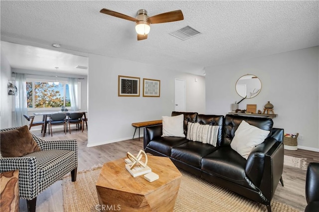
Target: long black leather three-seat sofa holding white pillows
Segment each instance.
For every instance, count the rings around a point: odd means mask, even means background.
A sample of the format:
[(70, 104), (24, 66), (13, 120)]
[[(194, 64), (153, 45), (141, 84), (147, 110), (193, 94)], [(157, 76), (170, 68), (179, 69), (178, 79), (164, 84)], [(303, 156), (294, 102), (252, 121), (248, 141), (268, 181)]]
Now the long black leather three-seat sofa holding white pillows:
[[(144, 129), (144, 149), (157, 156), (169, 157), (179, 168), (218, 184), (248, 199), (267, 206), (279, 181), (282, 183), (284, 165), (284, 130), (273, 128), (270, 118), (240, 115), (205, 115), (197, 112), (172, 112), (184, 114), (184, 134), (187, 123), (218, 125), (216, 147), (194, 142), (183, 137), (161, 137), (162, 125)], [(234, 132), (242, 120), (271, 133), (257, 145), (246, 160), (230, 147)]]

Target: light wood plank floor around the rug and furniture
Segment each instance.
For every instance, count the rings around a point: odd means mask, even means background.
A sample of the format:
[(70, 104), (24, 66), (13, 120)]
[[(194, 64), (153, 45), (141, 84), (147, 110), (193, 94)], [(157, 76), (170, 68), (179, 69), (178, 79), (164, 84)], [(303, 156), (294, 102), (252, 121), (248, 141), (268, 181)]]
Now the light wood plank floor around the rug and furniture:
[[(42, 137), (40, 131), (32, 131)], [(87, 147), (87, 131), (83, 133), (76, 131), (72, 127), (71, 134), (65, 135), (63, 130), (53, 131), (53, 137), (46, 135), (45, 140), (57, 139), (77, 139), (78, 141), (78, 171), (89, 169), (90, 167), (105, 162), (119, 159), (126, 156), (128, 151), (138, 153), (143, 149), (143, 138), (126, 140), (111, 144), (95, 147)], [(286, 155), (307, 158), (309, 162), (319, 162), (319, 153), (307, 150), (289, 151), (285, 150)], [(307, 205), (305, 197), (306, 170), (284, 166), (283, 180), (285, 187), (278, 185), (273, 200), (285, 203), (299, 211), (304, 211)], [(58, 181), (46, 189), (37, 197), (37, 212), (63, 212), (62, 181)], [(266, 209), (266, 207), (265, 207)], [(26, 201), (20, 199), (20, 211), (26, 211)], [(81, 209), (79, 209), (81, 212)]]

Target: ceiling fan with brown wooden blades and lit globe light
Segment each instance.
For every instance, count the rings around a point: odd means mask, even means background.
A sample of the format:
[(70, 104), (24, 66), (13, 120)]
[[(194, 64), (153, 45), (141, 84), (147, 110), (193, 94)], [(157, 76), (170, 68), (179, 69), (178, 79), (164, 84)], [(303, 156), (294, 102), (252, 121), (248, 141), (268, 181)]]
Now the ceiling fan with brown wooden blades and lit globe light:
[(184, 16), (181, 10), (174, 10), (170, 12), (164, 12), (158, 15), (149, 17), (145, 9), (139, 9), (138, 15), (131, 17), (120, 12), (112, 11), (110, 9), (103, 8), (100, 10), (101, 13), (112, 15), (115, 17), (123, 18), (136, 22), (135, 30), (138, 33), (138, 40), (145, 40), (148, 38), (150, 32), (150, 24), (152, 23), (166, 23), (172, 21), (183, 20)]

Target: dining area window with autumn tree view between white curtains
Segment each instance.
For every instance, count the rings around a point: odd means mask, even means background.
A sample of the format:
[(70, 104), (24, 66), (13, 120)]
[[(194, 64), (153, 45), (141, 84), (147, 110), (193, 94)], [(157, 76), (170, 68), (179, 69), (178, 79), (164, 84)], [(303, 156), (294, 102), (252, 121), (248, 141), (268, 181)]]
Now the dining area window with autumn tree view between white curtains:
[[(76, 88), (76, 97), (80, 96), (80, 82)], [(26, 98), (28, 108), (54, 108), (66, 106), (70, 107), (69, 86), (66, 82), (58, 85), (41, 80), (28, 80), (26, 83)], [(80, 98), (77, 98), (80, 101)], [(80, 108), (80, 104), (79, 104)]]

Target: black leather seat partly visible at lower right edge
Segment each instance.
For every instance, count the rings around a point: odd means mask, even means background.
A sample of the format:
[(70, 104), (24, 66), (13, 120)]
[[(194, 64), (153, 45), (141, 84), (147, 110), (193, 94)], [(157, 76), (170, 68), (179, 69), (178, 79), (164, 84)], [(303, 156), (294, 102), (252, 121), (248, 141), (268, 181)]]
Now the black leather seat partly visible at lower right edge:
[(306, 200), (305, 212), (319, 211), (319, 163), (309, 163), (306, 175)]

